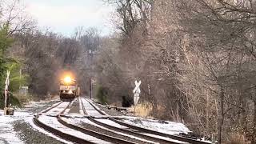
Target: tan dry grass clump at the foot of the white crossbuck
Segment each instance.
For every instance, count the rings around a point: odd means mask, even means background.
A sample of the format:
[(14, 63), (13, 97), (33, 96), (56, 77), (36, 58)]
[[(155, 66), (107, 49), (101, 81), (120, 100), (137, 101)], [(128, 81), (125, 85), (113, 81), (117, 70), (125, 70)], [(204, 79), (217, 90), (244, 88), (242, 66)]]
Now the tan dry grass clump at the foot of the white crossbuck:
[[(142, 118), (150, 117), (151, 111), (152, 106), (150, 105), (149, 102), (138, 103), (137, 106), (135, 107), (135, 115), (140, 116)], [(130, 107), (130, 112), (134, 113), (134, 106)]]

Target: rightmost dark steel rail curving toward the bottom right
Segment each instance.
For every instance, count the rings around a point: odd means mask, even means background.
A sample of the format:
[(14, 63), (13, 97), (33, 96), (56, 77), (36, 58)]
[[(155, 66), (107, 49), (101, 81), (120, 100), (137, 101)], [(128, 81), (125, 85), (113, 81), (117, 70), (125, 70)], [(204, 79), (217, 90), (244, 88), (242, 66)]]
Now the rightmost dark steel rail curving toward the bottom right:
[[(87, 100), (86, 100), (86, 101), (87, 101)], [(92, 104), (90, 101), (87, 101), (87, 102), (89, 102), (90, 105), (93, 106), (94, 109), (97, 110), (100, 114), (106, 115), (106, 114), (103, 113), (101, 110), (98, 110), (98, 108), (95, 107), (94, 104)], [(198, 141), (198, 140), (195, 140), (195, 139), (192, 139), (192, 138), (181, 137), (181, 136), (178, 136), (178, 135), (165, 134), (165, 133), (161, 133), (161, 132), (158, 132), (158, 131), (154, 131), (154, 130), (149, 130), (149, 129), (146, 129), (146, 128), (142, 128), (142, 127), (139, 127), (139, 126), (133, 126), (133, 125), (127, 124), (126, 122), (118, 121), (118, 120), (115, 119), (115, 118), (111, 118), (111, 117), (108, 117), (108, 118), (109, 118), (110, 120), (112, 120), (113, 122), (118, 123), (118, 124), (121, 125), (121, 126), (126, 126), (126, 127), (129, 127), (130, 129), (138, 130), (138, 131), (145, 132), (145, 133), (148, 133), (148, 134), (159, 135), (159, 136), (162, 136), (162, 137), (175, 139), (175, 140), (178, 140), (178, 141), (181, 141), (181, 142), (189, 142), (189, 143), (191, 143), (191, 144), (209, 144), (209, 142), (202, 142), (202, 141)]]

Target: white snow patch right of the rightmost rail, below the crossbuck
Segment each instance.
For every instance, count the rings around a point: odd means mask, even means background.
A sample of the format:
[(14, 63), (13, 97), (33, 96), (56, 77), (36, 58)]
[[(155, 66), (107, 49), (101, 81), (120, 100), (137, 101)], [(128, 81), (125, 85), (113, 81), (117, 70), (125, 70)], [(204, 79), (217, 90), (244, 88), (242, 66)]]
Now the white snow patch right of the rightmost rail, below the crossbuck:
[(188, 134), (191, 132), (184, 124), (178, 122), (170, 121), (159, 121), (159, 120), (150, 120), (143, 118), (134, 118), (134, 117), (124, 117), (124, 122), (134, 125), (144, 127), (146, 129), (155, 130), (158, 132), (166, 134), (179, 134), (184, 133)]

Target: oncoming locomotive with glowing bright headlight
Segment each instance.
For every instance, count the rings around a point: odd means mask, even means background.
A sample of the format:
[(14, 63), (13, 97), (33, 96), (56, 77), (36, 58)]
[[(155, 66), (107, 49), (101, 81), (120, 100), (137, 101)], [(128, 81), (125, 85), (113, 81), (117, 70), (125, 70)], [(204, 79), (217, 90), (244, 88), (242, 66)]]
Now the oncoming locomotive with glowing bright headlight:
[(80, 88), (76, 80), (71, 75), (65, 75), (61, 78), (59, 86), (59, 97), (62, 101), (72, 101), (78, 97)]

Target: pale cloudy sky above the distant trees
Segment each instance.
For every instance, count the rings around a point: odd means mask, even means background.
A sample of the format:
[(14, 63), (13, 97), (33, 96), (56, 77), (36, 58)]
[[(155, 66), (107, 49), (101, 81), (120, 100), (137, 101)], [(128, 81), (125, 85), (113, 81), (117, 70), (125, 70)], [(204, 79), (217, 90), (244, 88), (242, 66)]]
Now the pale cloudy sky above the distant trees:
[(26, 11), (40, 28), (50, 27), (65, 36), (74, 34), (78, 26), (95, 27), (102, 35), (114, 31), (110, 22), (114, 7), (102, 0), (23, 0)]

